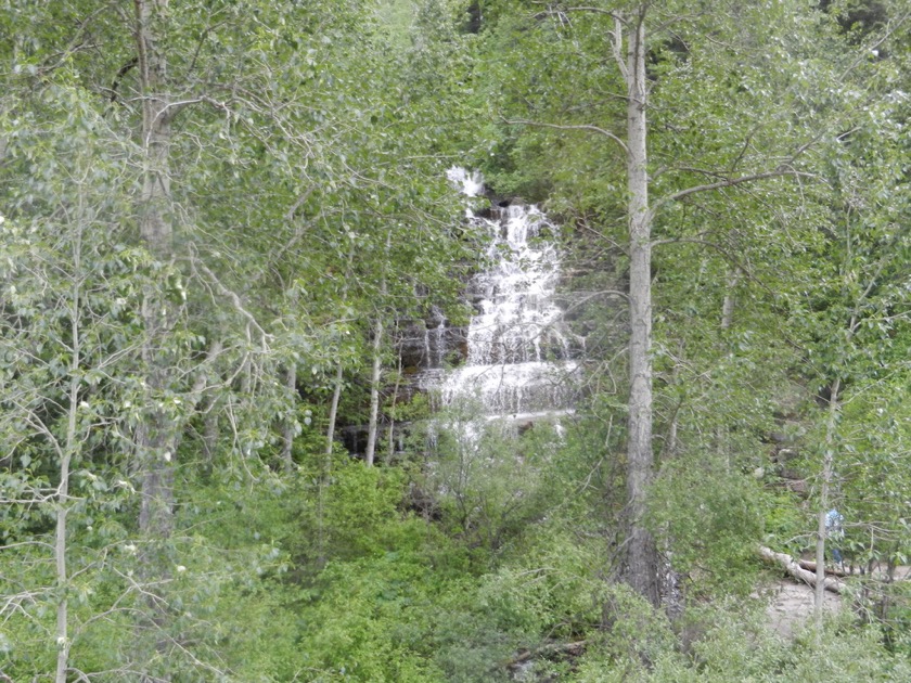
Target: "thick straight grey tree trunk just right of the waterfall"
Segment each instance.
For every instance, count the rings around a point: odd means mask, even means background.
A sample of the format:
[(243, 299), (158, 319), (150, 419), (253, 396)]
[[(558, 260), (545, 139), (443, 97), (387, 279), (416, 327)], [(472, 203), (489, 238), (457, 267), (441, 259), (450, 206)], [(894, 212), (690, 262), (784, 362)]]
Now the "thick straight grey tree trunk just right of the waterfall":
[(645, 528), (645, 495), (652, 452), (652, 215), (646, 154), (645, 9), (630, 17), (627, 46), (627, 180), (629, 190), (629, 436), (627, 514), (629, 538), (624, 579), (658, 605), (658, 558)]

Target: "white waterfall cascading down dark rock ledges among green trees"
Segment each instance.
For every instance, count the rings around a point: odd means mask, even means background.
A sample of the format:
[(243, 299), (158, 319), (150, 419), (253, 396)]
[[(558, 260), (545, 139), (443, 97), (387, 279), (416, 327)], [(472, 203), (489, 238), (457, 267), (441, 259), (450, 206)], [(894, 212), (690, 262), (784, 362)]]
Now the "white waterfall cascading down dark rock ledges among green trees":
[[(484, 191), (477, 173), (452, 168), (449, 179), (466, 196)], [(470, 285), (477, 310), (467, 330), (463, 365), (432, 379), (442, 402), (474, 398), (490, 417), (531, 420), (570, 410), (569, 345), (554, 302), (560, 279), (559, 229), (534, 206), (514, 205), (492, 219), (469, 219), (490, 235), (489, 269)]]

